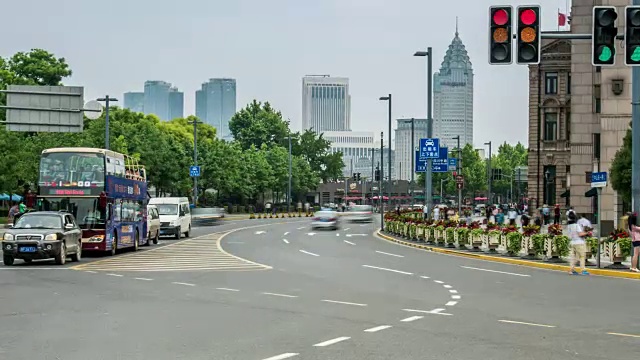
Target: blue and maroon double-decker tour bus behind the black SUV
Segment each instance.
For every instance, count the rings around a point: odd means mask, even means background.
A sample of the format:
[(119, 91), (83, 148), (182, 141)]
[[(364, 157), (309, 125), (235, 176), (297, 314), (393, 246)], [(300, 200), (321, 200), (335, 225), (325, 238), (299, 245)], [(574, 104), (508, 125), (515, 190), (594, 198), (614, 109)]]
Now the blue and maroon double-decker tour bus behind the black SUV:
[(127, 155), (81, 147), (42, 151), (38, 209), (72, 213), (84, 251), (113, 255), (149, 245), (147, 202), (145, 169)]

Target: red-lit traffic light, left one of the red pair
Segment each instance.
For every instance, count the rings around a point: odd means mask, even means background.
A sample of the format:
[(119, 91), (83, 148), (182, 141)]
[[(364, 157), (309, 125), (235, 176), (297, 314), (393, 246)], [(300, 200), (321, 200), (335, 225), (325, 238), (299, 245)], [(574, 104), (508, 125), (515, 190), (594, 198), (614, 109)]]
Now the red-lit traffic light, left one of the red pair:
[(512, 6), (489, 8), (489, 64), (511, 64), (511, 13)]

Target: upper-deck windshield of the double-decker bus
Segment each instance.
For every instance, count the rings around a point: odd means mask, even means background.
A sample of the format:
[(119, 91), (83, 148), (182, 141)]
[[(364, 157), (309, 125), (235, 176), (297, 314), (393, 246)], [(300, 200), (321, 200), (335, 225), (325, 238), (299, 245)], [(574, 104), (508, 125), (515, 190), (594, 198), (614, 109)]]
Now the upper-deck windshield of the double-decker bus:
[(104, 186), (104, 155), (95, 153), (46, 153), (40, 159), (40, 186)]

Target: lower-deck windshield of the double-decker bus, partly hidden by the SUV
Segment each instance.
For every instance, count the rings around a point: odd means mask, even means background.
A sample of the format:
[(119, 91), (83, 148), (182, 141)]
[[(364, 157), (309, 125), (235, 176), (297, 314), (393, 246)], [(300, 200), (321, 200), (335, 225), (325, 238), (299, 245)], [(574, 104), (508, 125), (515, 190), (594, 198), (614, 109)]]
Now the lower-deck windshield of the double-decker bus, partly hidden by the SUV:
[(107, 209), (101, 208), (97, 197), (83, 198), (42, 198), (41, 209), (44, 211), (68, 211), (76, 218), (82, 229), (104, 229)]

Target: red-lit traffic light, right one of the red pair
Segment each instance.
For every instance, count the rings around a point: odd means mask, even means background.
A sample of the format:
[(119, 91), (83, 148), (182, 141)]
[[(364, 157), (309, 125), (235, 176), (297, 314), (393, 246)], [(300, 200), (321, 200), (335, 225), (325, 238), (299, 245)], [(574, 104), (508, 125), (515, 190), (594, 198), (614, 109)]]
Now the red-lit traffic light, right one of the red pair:
[(518, 6), (516, 63), (540, 63), (540, 6)]

